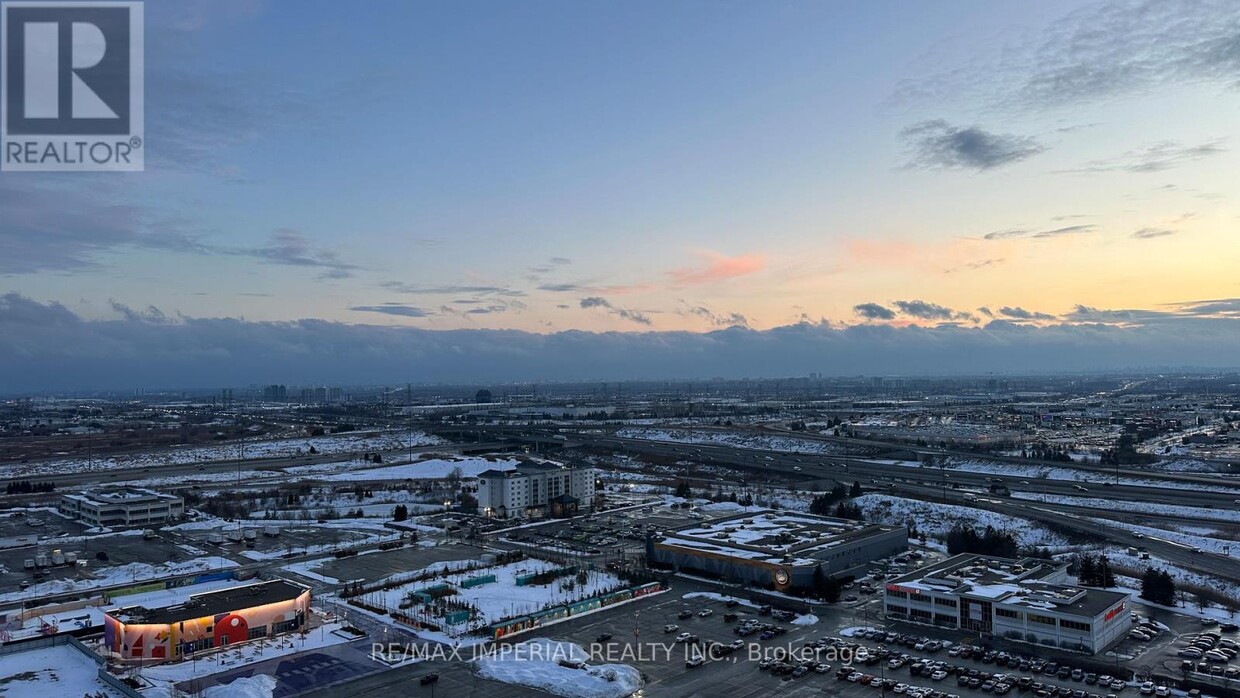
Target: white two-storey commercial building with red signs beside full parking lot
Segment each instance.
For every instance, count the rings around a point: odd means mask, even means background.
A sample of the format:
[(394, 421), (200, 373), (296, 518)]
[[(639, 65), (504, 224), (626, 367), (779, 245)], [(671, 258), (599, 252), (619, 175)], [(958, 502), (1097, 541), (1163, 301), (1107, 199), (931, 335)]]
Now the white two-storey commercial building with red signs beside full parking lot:
[(1068, 565), (961, 554), (889, 580), (887, 617), (1096, 655), (1131, 627), (1128, 595), (1068, 584)]

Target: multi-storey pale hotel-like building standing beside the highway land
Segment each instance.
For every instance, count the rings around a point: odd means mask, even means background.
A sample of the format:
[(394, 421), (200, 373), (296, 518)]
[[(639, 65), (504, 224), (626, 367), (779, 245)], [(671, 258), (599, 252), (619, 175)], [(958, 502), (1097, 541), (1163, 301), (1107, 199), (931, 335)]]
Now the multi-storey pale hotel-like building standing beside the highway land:
[(593, 467), (549, 461), (486, 470), (477, 476), (477, 507), (494, 518), (572, 516), (594, 508), (595, 479)]

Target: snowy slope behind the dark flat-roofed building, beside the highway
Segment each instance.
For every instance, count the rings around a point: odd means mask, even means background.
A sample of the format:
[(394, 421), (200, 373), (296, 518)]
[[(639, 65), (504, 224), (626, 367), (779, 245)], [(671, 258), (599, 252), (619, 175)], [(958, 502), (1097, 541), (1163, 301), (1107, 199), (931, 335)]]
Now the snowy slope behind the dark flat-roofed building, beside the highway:
[(861, 507), (866, 521), (893, 526), (904, 526), (911, 521), (919, 533), (931, 537), (945, 536), (956, 523), (965, 523), (975, 528), (993, 526), (996, 529), (1012, 533), (1016, 536), (1017, 543), (1025, 547), (1058, 548), (1068, 544), (1063, 536), (1032, 521), (985, 510), (906, 500), (889, 495), (862, 495), (854, 498), (853, 503)]

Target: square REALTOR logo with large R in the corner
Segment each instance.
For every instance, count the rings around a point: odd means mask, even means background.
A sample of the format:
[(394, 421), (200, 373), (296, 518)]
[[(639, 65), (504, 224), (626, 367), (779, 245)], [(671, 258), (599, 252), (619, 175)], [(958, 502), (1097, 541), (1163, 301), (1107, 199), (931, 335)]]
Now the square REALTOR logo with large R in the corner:
[(0, 4), (0, 170), (144, 167), (141, 2)]

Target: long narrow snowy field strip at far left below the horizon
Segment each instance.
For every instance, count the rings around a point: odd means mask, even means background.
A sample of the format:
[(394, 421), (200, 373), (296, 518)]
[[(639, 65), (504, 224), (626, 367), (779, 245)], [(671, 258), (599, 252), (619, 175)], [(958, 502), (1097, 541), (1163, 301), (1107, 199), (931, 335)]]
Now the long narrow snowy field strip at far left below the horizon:
[(319, 454), (361, 454), (368, 451), (402, 450), (413, 446), (443, 444), (439, 436), (415, 431), (410, 443), (408, 431), (381, 431), (358, 434), (332, 434), (299, 439), (274, 439), (262, 441), (229, 441), (211, 446), (190, 446), (150, 454), (125, 454), (118, 456), (84, 459), (66, 457), (42, 462), (9, 466), (6, 476), (29, 477), (46, 474), (88, 472), (118, 467), (144, 467), (156, 465), (181, 465), (234, 460), (238, 457), (290, 457), (306, 455), (311, 448)]

